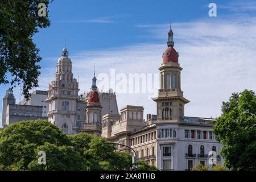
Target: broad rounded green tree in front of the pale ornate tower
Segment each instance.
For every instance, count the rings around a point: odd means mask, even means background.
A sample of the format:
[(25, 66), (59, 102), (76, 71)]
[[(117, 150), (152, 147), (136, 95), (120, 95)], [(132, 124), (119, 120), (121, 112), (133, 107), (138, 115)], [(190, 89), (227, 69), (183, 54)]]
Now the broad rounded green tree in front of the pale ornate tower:
[(21, 121), (0, 132), (0, 164), (6, 169), (40, 167), (37, 163), (40, 150), (46, 150), (46, 169), (61, 169), (61, 165), (63, 170), (78, 169), (79, 153), (73, 150), (70, 138), (48, 121)]

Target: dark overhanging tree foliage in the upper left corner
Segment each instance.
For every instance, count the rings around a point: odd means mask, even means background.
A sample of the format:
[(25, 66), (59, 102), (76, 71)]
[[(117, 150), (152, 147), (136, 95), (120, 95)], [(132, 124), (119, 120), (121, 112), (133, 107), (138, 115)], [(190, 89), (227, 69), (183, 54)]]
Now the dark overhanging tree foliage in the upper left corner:
[[(46, 16), (38, 15), (38, 5), (48, 7), (49, 0), (1, 0), (0, 2), (0, 84), (23, 83), (22, 93), (30, 96), (30, 89), (38, 86), (42, 59), (39, 49), (32, 42), (38, 28), (46, 28), (50, 22)], [(11, 79), (7, 78), (11, 74)]]

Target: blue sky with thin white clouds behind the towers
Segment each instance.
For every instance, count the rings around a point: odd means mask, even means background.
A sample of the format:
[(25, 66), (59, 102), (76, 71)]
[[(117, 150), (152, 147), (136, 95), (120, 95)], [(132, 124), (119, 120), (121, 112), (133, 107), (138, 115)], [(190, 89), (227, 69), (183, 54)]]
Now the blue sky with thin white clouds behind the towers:
[[(208, 15), (211, 2), (217, 5), (216, 17)], [(157, 91), (170, 22), (183, 68), (181, 89), (190, 101), (185, 115), (218, 117), (222, 101), (228, 101), (233, 92), (256, 90), (255, 1), (55, 0), (48, 10), (51, 26), (39, 29), (33, 38), (42, 57), (39, 87), (34, 90), (48, 89), (66, 45), (80, 94), (90, 90), (94, 65), (98, 85), (106, 84), (101, 76), (110, 76), (112, 71), (127, 77), (138, 73), (156, 75), (151, 91)], [(1, 98), (9, 87), (0, 85)], [(101, 89), (107, 92), (109, 88)], [(157, 92), (148, 90), (121, 93), (114, 88), (118, 109), (139, 105), (144, 106), (144, 115), (156, 114), (150, 98)], [(22, 100), (19, 86), (14, 95), (16, 102)]]

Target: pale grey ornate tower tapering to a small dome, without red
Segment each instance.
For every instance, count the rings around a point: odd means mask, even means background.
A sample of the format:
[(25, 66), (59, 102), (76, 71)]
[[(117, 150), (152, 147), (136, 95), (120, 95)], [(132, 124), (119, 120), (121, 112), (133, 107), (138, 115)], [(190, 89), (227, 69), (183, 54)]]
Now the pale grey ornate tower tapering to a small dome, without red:
[(67, 48), (63, 48), (46, 102), (49, 102), (49, 121), (67, 134), (73, 133), (76, 123), (78, 92), (79, 84), (73, 78), (72, 61)]

